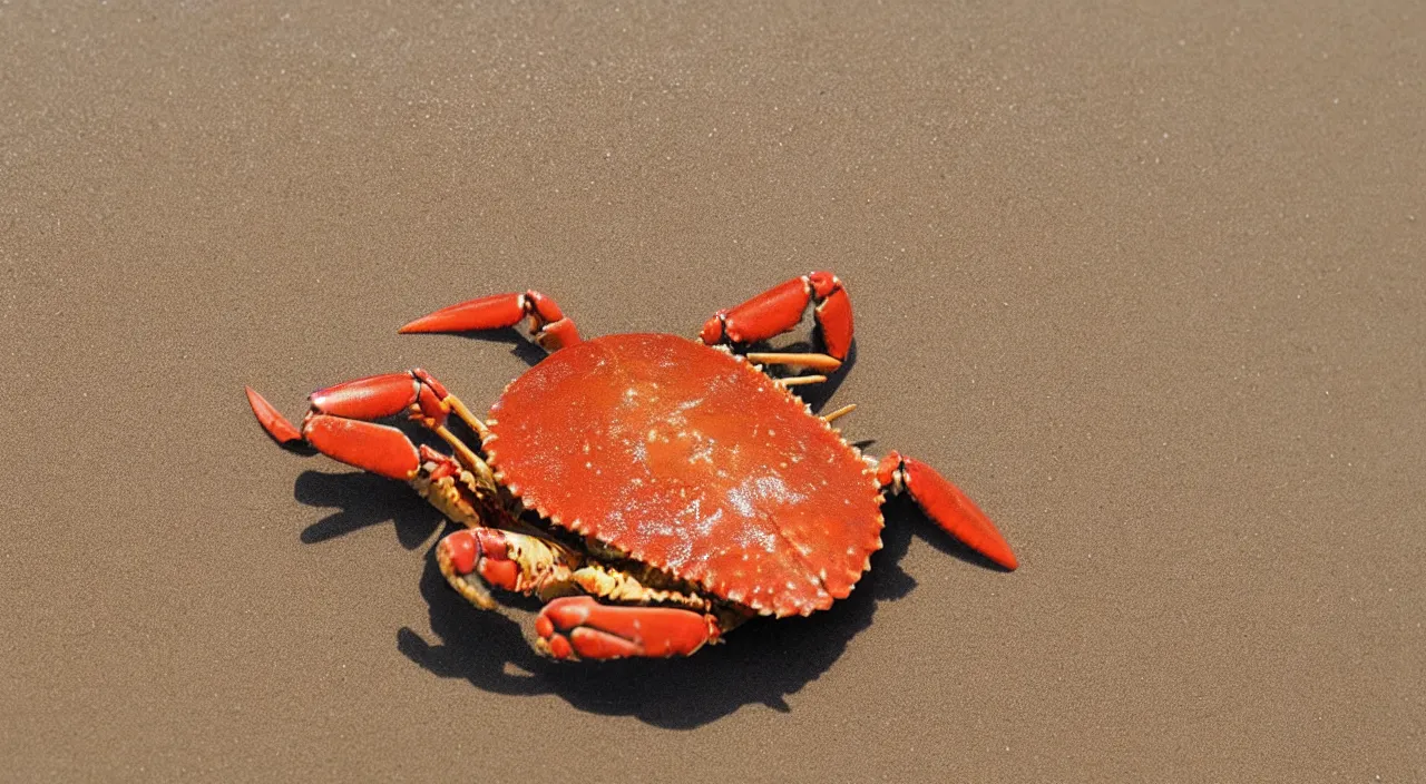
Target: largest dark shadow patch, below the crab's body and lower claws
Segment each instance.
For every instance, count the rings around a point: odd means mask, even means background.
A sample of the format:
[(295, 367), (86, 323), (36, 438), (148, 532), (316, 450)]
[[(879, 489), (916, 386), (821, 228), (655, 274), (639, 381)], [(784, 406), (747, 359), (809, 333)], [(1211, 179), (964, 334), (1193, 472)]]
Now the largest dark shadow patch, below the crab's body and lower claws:
[[(597, 663), (555, 661), (538, 654), (529, 623), (471, 607), (426, 562), (421, 593), (431, 607), (428, 641), (411, 629), (396, 633), (408, 659), (441, 677), (462, 679), (501, 694), (556, 694), (579, 710), (633, 716), (666, 728), (693, 728), (764, 704), (790, 711), (786, 697), (817, 680), (847, 643), (871, 624), (876, 606), (906, 596), (915, 580), (897, 562), (911, 540), (913, 519), (897, 515), (883, 533), (886, 546), (850, 597), (811, 617), (754, 619), (724, 643), (687, 659), (633, 659)], [(506, 607), (533, 610), (538, 602), (502, 594)]]

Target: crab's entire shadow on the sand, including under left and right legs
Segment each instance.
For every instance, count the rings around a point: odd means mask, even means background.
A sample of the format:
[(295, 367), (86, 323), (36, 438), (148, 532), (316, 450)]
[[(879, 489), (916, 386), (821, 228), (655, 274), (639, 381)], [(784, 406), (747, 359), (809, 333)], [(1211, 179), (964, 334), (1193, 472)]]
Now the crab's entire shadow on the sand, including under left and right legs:
[[(335, 507), (308, 526), (301, 539), (317, 543), (391, 522), (408, 550), (432, 540), (442, 519), (405, 488), (366, 473), (298, 476), (297, 500)], [(911, 537), (920, 535), (945, 555), (977, 566), (988, 562), (928, 525), (904, 499), (884, 506), (884, 547), (871, 557), (851, 596), (811, 617), (754, 619), (726, 641), (687, 659), (563, 663), (530, 647), (539, 602), (501, 594), (505, 610), (482, 612), (446, 586), (431, 552), (419, 590), (429, 606), (431, 637), (409, 627), (396, 631), (396, 649), (422, 669), (461, 679), (498, 694), (556, 694), (570, 706), (606, 716), (633, 716), (666, 728), (693, 728), (743, 706), (790, 711), (787, 696), (817, 680), (841, 657), (847, 643), (871, 624), (880, 602), (915, 587), (898, 566)], [(523, 616), (523, 623), (513, 620)]]

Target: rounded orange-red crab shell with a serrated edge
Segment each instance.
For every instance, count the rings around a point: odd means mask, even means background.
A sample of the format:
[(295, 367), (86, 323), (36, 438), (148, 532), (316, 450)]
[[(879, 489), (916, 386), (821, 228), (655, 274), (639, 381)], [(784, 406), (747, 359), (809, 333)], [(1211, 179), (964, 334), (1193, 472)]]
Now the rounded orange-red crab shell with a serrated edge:
[(844, 599), (881, 547), (874, 469), (732, 354), (610, 335), (506, 386), (483, 448), (552, 525), (761, 614)]

